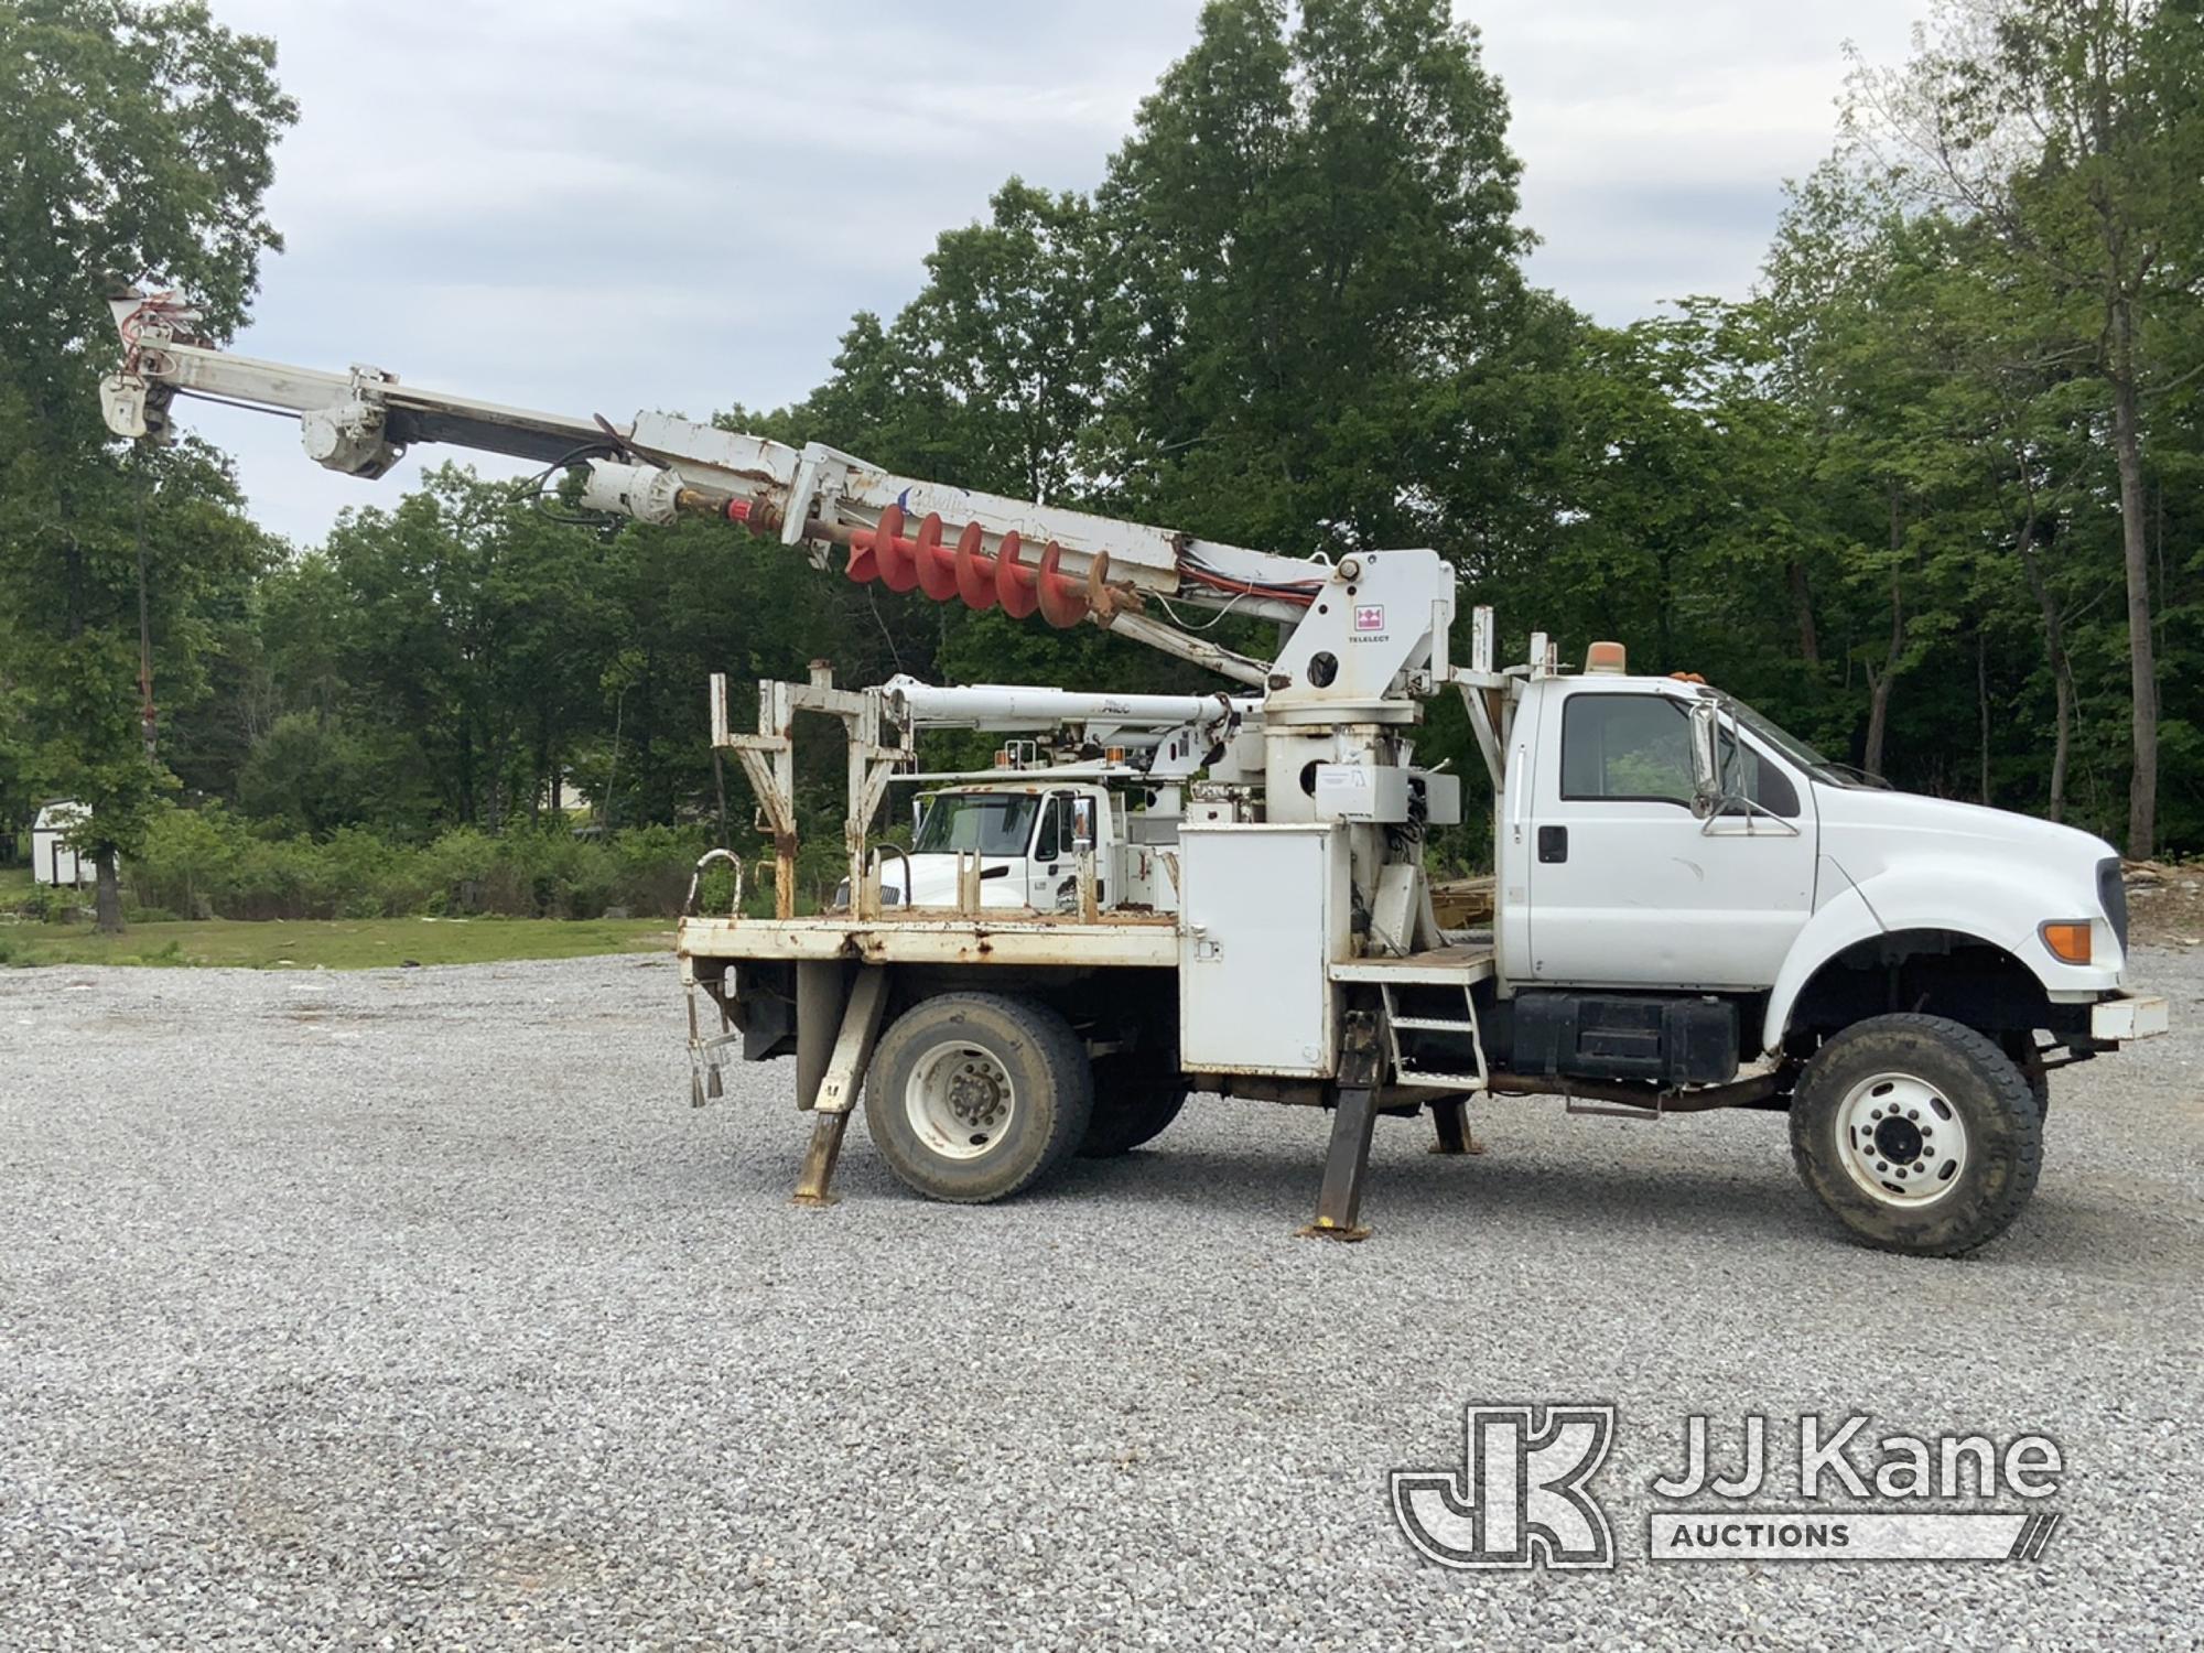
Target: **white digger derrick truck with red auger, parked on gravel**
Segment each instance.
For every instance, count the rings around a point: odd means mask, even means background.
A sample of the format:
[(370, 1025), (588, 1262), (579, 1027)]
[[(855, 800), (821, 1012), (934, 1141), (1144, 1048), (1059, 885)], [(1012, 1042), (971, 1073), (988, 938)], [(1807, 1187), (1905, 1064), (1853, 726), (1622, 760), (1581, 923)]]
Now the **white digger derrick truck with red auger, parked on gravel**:
[[(1124, 1153), (1190, 1093), (1329, 1109), (1307, 1232), (1360, 1236), (1380, 1115), (1560, 1095), (1664, 1120), (1790, 1117), (1798, 1170), (1856, 1236), (1957, 1254), (2025, 1206), (2048, 1076), (2167, 1029), (2129, 985), (2120, 862), (2087, 833), (1889, 791), (1699, 681), (1613, 644), (1582, 670), (1532, 635), (1497, 666), (1488, 608), (1455, 659), (1457, 575), (1428, 549), (1292, 558), (893, 476), (668, 414), (615, 425), (417, 390), (377, 368), (253, 361), (168, 293), (115, 298), (119, 436), (209, 397), (295, 417), (306, 454), (379, 476), (412, 443), (580, 472), (586, 507), (705, 516), (932, 602), (1098, 624), (1195, 661), (1217, 696), (844, 688), (827, 663), (710, 685), (774, 844), (774, 917), (690, 912), (692, 1095), (793, 1056), (813, 1115), (798, 1199), (831, 1199), (851, 1113), (921, 1195), (992, 1201)], [(1278, 624), (1256, 659), (1184, 608)], [(1461, 696), (1492, 787), (1490, 928), (1441, 928), (1424, 831), (1459, 780), (1417, 763)], [(793, 741), (840, 723), (846, 879), (796, 910)], [(998, 767), (915, 776), (923, 727), (1001, 730)], [(910, 849), (875, 844), (899, 780)], [(734, 860), (725, 851), (712, 857)]]

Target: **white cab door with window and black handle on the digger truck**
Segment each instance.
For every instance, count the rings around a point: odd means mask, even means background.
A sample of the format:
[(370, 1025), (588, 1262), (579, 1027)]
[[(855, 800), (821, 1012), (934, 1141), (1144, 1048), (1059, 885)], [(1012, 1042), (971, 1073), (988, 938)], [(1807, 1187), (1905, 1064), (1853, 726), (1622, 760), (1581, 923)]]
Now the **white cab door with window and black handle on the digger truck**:
[(1545, 707), (1530, 970), (1582, 987), (1768, 987), (1814, 912), (1814, 787), (1724, 730), (1732, 804), (1693, 815), (1688, 701), (1576, 685)]

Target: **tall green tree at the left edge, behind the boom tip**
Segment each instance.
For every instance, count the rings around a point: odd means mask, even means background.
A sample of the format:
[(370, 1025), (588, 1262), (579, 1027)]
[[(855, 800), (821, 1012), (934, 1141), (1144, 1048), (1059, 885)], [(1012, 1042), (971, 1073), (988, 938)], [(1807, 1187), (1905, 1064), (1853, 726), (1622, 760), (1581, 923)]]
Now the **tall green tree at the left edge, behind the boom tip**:
[(176, 282), (227, 337), (278, 247), (260, 203), (291, 117), (273, 46), (203, 4), (0, 4), (0, 637), (29, 785), (90, 809), (101, 928), (121, 923), (117, 853), (165, 782), (132, 688), (139, 536), (170, 694), (198, 688), (196, 604), (262, 555), (212, 454), (108, 443), (101, 273)]

